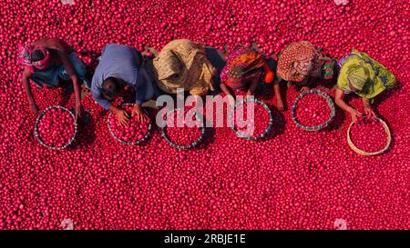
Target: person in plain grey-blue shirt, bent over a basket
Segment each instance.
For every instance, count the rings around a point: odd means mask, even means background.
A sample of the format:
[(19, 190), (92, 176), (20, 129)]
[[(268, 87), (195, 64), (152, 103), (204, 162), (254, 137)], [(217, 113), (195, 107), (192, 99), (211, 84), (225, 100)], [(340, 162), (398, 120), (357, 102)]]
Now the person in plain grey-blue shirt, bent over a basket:
[(102, 50), (101, 59), (91, 82), (91, 94), (105, 109), (117, 114), (121, 124), (128, 124), (129, 114), (111, 104), (111, 101), (124, 93), (124, 87), (133, 87), (136, 102), (132, 116), (137, 115), (142, 121), (147, 116), (142, 112), (141, 104), (155, 95), (153, 79), (142, 66), (142, 55), (133, 47), (108, 44)]

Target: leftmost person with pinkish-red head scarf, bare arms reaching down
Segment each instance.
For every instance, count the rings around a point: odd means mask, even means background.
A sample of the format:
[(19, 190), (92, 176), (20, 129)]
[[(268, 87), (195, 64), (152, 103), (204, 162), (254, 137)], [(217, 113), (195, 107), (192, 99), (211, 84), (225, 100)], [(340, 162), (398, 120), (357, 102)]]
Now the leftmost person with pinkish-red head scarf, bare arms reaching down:
[(79, 80), (86, 82), (86, 65), (77, 57), (73, 48), (62, 40), (44, 38), (33, 45), (20, 47), (19, 63), (25, 66), (22, 84), (28, 97), (28, 104), (33, 113), (39, 108), (36, 104), (29, 80), (37, 86), (58, 87), (60, 80), (72, 80), (76, 94), (76, 117), (81, 114), (81, 94)]

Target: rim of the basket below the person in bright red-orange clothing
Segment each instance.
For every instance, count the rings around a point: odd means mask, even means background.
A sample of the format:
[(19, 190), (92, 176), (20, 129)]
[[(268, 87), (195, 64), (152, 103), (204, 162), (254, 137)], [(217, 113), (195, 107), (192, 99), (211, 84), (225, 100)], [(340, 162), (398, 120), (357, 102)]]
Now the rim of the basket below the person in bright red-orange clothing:
[[(239, 107), (239, 106), (241, 106), (242, 104), (245, 104), (245, 103), (261, 104), (262, 107), (268, 112), (269, 124), (266, 127), (265, 131), (263, 131), (263, 133), (260, 134), (259, 136), (255, 136), (255, 137), (245, 136), (245, 135), (241, 134), (241, 132), (239, 132), (238, 130), (235, 129), (234, 121), (233, 121), (233, 112), (237, 107)], [(249, 140), (249, 141), (260, 141), (272, 132), (272, 129), (273, 129), (273, 114), (272, 114), (272, 111), (269, 109), (269, 106), (267, 104), (255, 99), (255, 98), (244, 99), (240, 103), (235, 104), (235, 106), (233, 107), (233, 111), (230, 114), (230, 127), (231, 127), (232, 131), (241, 139), (245, 139), (245, 140)]]

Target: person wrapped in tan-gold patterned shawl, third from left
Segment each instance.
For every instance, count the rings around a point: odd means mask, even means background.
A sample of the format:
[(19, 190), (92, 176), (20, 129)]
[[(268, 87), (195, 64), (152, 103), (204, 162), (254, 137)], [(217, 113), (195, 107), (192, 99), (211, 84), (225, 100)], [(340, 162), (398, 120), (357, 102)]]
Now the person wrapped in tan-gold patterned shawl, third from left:
[(200, 43), (186, 39), (169, 42), (154, 58), (153, 71), (159, 89), (168, 94), (176, 94), (178, 88), (200, 96), (214, 90), (212, 76), (216, 69)]

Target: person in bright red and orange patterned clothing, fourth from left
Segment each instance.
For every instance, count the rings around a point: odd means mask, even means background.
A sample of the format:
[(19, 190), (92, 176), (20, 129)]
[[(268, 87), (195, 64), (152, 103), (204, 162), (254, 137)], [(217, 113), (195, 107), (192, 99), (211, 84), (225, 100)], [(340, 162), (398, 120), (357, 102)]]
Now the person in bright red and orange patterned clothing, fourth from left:
[[(235, 97), (234, 90), (244, 89), (247, 95), (254, 95), (261, 86), (261, 75), (267, 84), (273, 82), (274, 74), (262, 55), (253, 48), (238, 45), (226, 56), (226, 65), (220, 74), (220, 89), (224, 94)], [(279, 84), (273, 85), (277, 107), (283, 110)]]

